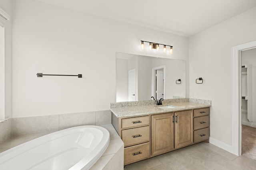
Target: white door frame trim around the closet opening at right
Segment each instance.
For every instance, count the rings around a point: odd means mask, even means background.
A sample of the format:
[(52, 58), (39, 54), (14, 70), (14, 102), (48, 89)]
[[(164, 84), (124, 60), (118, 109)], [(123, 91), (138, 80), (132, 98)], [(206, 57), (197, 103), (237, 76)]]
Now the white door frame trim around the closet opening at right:
[(232, 47), (232, 152), (242, 153), (241, 51), (256, 48), (256, 41)]

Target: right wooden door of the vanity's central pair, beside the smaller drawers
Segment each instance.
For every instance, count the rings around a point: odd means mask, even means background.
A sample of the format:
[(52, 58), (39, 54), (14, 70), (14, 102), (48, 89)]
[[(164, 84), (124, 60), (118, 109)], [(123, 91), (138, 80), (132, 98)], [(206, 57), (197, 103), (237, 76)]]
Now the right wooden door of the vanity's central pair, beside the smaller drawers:
[(193, 143), (193, 111), (174, 113), (175, 119), (175, 149), (186, 147)]

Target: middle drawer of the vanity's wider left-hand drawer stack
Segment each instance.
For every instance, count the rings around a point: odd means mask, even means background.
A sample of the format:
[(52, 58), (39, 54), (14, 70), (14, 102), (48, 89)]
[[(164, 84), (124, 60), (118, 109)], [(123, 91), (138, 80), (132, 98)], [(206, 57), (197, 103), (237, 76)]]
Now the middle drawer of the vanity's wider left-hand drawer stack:
[(124, 147), (149, 142), (149, 126), (123, 130), (122, 140)]

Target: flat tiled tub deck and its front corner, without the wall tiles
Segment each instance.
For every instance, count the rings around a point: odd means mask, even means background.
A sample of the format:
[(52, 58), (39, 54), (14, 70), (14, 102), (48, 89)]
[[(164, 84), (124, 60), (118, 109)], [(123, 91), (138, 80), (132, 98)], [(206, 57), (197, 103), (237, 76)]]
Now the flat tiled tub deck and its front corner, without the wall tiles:
[[(116, 130), (111, 124), (100, 125), (107, 129), (110, 133), (110, 143), (106, 151), (102, 154), (99, 160), (90, 168), (90, 170), (121, 170), (123, 169), (124, 162), (124, 143), (120, 139)], [(0, 144), (0, 152), (10, 149), (24, 142), (30, 141), (37, 137), (46, 135), (48, 133), (34, 134), (34, 135), (24, 135), (19, 137), (14, 137), (5, 143)]]

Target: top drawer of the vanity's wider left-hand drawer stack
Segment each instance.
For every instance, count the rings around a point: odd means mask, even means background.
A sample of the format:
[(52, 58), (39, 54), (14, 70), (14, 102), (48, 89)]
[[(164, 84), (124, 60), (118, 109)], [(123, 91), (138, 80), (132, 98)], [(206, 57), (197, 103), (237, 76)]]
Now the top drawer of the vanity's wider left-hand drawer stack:
[(149, 116), (122, 119), (122, 128), (132, 128), (146, 125), (149, 125)]

